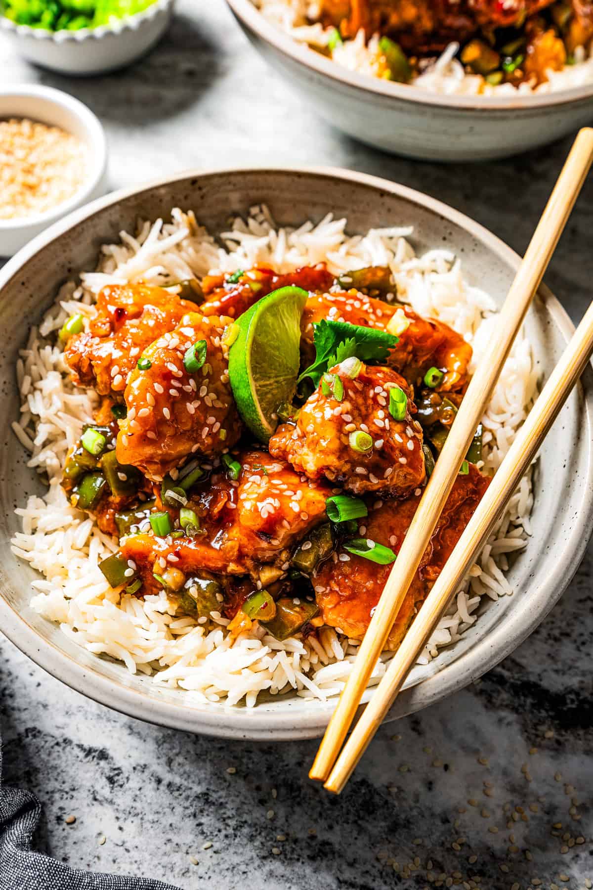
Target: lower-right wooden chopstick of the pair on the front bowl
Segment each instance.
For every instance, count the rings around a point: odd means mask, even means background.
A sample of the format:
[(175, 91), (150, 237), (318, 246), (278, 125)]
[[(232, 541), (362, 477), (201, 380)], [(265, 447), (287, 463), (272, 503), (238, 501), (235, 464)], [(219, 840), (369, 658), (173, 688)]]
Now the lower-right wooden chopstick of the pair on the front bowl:
[(381, 720), (400, 692), (405, 677), (415, 664), (430, 634), (437, 627), (439, 619), (451, 602), (453, 594), (459, 589), (469, 567), (491, 535), (509, 498), (517, 489), (521, 477), (540, 449), (541, 442), (549, 433), (550, 426), (581, 376), (592, 352), (593, 303), (589, 305), (525, 424), (517, 433), (476, 512), (445, 563), (435, 586), (422, 604), (421, 611), (413, 620), (412, 627), (391, 660), (385, 676), (373, 693), (373, 698), (366, 706), (363, 716), (342, 748), (341, 755), (325, 783), (326, 789), (339, 794), (349, 780), (366, 746), (381, 725)]

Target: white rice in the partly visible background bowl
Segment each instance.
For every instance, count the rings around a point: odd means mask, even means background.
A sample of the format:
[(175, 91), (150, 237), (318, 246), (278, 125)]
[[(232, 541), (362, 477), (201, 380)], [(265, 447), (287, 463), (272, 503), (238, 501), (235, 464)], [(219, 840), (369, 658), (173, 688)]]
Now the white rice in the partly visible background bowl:
[[(333, 28), (324, 28), (319, 22), (310, 24), (320, 15), (320, 4), (311, 0), (252, 0), (262, 15), (277, 28), (282, 28), (298, 43), (318, 46), (327, 50)], [(525, 83), (518, 87), (512, 84), (493, 86), (484, 77), (467, 74), (461, 62), (454, 59), (459, 44), (449, 44), (445, 52), (432, 61), (413, 79), (413, 85), (429, 93), (447, 95), (517, 95), (517, 93), (557, 93), (575, 86), (593, 83), (593, 45), (589, 52), (579, 46), (574, 52), (574, 63), (565, 65), (561, 71), (547, 71), (548, 80), (538, 86)], [(314, 52), (313, 50), (311, 52)], [(330, 51), (333, 61), (350, 71), (381, 77), (381, 50), (379, 37), (374, 35), (366, 40), (361, 28), (357, 36), (345, 40)]]

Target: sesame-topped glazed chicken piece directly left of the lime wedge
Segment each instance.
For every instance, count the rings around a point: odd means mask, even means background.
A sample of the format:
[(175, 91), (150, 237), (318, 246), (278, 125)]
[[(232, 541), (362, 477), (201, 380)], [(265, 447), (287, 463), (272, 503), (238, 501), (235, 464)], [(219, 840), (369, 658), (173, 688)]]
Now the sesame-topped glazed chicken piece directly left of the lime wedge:
[[(117, 459), (161, 481), (188, 455), (212, 457), (232, 447), (242, 425), (228, 383), (220, 337), (231, 319), (191, 312), (150, 344), (125, 388)], [(186, 353), (205, 345), (204, 363), (186, 368)], [(202, 357), (204, 358), (204, 357)]]

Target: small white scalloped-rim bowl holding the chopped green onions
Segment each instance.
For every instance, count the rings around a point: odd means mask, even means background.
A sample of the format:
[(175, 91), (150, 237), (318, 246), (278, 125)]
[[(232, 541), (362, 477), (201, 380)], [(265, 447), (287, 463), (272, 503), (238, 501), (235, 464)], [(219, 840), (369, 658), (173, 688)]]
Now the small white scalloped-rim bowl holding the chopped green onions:
[(113, 25), (80, 31), (45, 31), (0, 16), (0, 30), (28, 61), (60, 74), (92, 75), (130, 65), (169, 27), (175, 0), (156, 0), (144, 12)]

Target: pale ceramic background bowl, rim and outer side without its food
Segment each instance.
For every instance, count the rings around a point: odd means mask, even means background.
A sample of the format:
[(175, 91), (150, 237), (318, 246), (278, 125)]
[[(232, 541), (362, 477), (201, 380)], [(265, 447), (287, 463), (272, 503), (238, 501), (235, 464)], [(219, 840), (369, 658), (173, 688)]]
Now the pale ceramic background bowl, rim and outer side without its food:
[(343, 68), (271, 25), (252, 0), (227, 0), (254, 47), (321, 117), (410, 158), (480, 161), (546, 145), (593, 120), (593, 84), (557, 93), (429, 93)]

